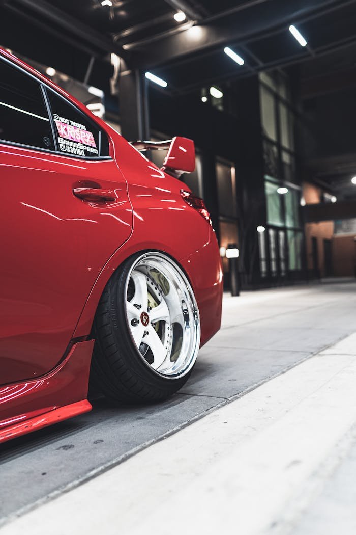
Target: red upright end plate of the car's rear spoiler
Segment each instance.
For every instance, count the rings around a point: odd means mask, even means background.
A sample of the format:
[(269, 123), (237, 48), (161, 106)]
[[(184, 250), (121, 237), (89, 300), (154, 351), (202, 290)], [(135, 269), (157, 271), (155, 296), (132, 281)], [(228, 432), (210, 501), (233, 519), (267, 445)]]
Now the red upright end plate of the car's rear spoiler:
[(173, 137), (161, 169), (175, 178), (192, 173), (195, 169), (194, 141), (187, 137)]

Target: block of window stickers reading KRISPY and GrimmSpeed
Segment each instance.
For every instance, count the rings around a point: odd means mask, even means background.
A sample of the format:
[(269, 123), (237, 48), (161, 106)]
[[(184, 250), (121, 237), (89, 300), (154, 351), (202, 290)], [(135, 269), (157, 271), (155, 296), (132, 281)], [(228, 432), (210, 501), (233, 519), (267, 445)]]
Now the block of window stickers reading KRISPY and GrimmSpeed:
[(91, 152), (93, 156), (98, 155), (96, 142), (93, 133), (88, 131), (81, 123), (76, 123), (65, 117), (53, 114), (59, 134), (58, 143), (62, 152), (85, 156), (85, 152)]

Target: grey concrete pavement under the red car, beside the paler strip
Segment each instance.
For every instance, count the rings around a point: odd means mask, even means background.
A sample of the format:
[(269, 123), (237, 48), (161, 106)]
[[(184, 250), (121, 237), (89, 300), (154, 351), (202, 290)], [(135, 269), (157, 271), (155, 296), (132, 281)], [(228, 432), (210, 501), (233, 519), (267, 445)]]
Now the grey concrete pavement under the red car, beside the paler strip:
[(221, 331), (169, 402), (114, 408), (98, 401), (88, 415), (0, 448), (0, 522), (77, 487), (352, 334), (355, 290), (355, 282), (345, 281), (226, 295)]

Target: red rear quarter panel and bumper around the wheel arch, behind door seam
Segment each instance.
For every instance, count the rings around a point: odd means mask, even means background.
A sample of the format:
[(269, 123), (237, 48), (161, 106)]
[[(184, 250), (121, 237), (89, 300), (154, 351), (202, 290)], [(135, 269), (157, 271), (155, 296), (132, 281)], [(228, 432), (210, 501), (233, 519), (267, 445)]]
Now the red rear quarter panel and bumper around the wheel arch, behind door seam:
[(112, 138), (117, 165), (128, 182), (133, 233), (100, 273), (74, 336), (90, 332), (100, 295), (118, 266), (129, 256), (151, 249), (167, 253), (185, 270), (199, 306), (203, 344), (221, 322), (222, 270), (215, 233), (183, 201), (180, 190), (188, 189), (183, 182), (162, 172), (114, 131)]

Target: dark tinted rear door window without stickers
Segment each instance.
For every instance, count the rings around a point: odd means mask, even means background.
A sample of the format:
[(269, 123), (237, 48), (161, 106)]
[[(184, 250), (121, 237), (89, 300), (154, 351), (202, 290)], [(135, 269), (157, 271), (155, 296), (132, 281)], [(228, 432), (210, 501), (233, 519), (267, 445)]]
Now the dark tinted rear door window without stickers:
[(0, 140), (54, 150), (39, 83), (3, 60), (0, 60)]

